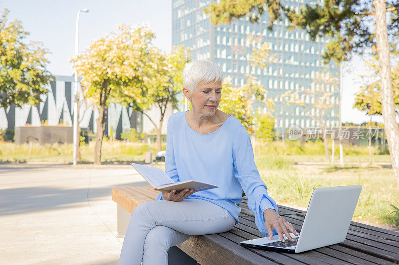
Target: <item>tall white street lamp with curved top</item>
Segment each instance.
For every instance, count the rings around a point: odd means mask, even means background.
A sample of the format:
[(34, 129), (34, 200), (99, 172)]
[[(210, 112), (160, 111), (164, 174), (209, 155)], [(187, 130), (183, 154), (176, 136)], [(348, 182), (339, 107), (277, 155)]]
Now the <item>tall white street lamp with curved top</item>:
[[(78, 35), (79, 35), (79, 14), (80, 12), (87, 13), (89, 9), (84, 8), (78, 11), (76, 15), (76, 28), (75, 28), (75, 56), (78, 54)], [(76, 166), (77, 155), (77, 137), (78, 137), (78, 73), (75, 69), (75, 88), (73, 91), (73, 166)], [(80, 136), (80, 135), (79, 135)], [(80, 141), (80, 140), (79, 140)]]

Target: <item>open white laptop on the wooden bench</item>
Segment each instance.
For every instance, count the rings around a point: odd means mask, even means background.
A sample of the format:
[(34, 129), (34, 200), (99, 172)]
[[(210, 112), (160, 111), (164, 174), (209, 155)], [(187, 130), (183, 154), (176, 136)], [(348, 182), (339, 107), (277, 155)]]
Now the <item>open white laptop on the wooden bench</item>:
[(294, 242), (278, 235), (240, 242), (240, 245), (256, 249), (300, 253), (345, 240), (359, 199), (361, 185), (315, 188), (298, 236), (290, 233)]

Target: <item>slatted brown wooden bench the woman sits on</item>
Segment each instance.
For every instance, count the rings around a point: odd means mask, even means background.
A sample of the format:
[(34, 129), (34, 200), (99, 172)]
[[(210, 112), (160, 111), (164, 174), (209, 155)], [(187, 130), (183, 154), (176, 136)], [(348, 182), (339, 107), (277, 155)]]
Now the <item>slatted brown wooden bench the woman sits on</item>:
[[(156, 198), (152, 187), (115, 187), (112, 199), (118, 203), (118, 234), (123, 236), (130, 213), (140, 203)], [(399, 233), (352, 222), (343, 243), (319, 248), (301, 254), (284, 254), (244, 248), (240, 241), (263, 237), (255, 225), (255, 217), (248, 209), (247, 198), (239, 204), (240, 223), (228, 232), (191, 236), (177, 247), (201, 265), (224, 264), (399, 264)], [(278, 205), (280, 215), (301, 230), (304, 211)], [(321, 235), (322, 236), (322, 235)], [(170, 263), (172, 265), (172, 263)], [(188, 262), (179, 264), (188, 264)], [(194, 263), (195, 264), (195, 263)]]

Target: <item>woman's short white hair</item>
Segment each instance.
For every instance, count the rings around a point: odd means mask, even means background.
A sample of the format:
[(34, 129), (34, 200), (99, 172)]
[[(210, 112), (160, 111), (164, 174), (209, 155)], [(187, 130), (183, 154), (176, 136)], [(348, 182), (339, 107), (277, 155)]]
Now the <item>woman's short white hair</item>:
[(183, 71), (183, 86), (193, 93), (200, 83), (221, 82), (223, 72), (220, 67), (208, 60), (196, 60), (187, 64)]

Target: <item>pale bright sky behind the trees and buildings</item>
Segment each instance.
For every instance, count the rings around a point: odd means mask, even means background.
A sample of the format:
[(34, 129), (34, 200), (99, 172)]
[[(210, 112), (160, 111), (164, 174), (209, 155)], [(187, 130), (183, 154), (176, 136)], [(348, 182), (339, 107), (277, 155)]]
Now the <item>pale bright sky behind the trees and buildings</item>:
[[(9, 9), (8, 18), (21, 20), (24, 29), (30, 32), (27, 40), (41, 41), (48, 49), (48, 70), (53, 75), (72, 75), (70, 58), (75, 53), (76, 14), (79, 18), (79, 52), (90, 43), (116, 29), (116, 25), (146, 23), (155, 32), (153, 44), (165, 52), (172, 48), (172, 3), (171, 0), (0, 0), (0, 12)], [(354, 94), (359, 90), (359, 76), (367, 74), (362, 57), (351, 62), (355, 71), (343, 79), (342, 121), (362, 123), (370, 116), (352, 108)], [(373, 116), (382, 122), (381, 116)]]

